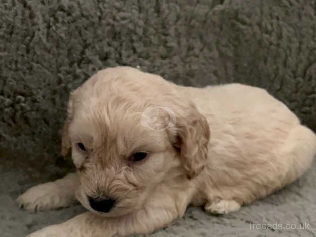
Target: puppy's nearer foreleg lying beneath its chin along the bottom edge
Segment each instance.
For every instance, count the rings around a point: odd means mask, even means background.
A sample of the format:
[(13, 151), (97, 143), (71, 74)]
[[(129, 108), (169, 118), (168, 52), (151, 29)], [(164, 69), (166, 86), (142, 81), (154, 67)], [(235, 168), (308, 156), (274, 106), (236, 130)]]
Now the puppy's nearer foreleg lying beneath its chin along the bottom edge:
[[(191, 192), (191, 191), (190, 191)], [(102, 217), (86, 212), (58, 225), (51, 225), (32, 233), (29, 237), (110, 237), (129, 234), (146, 234), (169, 225), (182, 217), (191, 197), (186, 190), (177, 196), (157, 195), (145, 206), (130, 214), (118, 217)]]

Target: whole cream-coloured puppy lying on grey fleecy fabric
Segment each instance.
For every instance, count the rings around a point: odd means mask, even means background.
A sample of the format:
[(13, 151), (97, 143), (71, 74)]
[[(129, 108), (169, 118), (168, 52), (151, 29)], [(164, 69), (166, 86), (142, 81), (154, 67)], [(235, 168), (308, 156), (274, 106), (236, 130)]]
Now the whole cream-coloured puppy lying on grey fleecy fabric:
[(70, 96), (62, 154), (76, 173), (18, 198), (27, 210), (89, 212), (30, 236), (149, 233), (187, 206), (236, 211), (297, 179), (315, 134), (265, 90), (193, 88), (130, 67), (99, 71)]

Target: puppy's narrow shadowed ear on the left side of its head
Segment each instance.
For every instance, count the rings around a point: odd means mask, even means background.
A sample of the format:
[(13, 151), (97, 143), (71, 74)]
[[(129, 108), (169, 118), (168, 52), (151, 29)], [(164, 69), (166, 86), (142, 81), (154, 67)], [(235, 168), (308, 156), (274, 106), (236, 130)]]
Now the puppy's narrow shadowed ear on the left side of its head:
[(68, 109), (67, 109), (67, 118), (62, 129), (62, 138), (61, 138), (61, 155), (66, 157), (71, 149), (71, 140), (69, 137), (69, 125), (73, 118), (74, 108), (73, 108), (73, 94), (69, 97)]

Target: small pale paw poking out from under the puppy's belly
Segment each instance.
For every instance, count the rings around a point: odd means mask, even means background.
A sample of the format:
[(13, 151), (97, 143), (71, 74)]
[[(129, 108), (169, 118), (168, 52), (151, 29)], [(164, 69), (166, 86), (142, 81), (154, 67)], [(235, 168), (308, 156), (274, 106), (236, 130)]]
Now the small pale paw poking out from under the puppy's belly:
[(208, 202), (205, 210), (213, 214), (227, 214), (239, 210), (241, 205), (234, 200), (219, 200), (218, 202)]

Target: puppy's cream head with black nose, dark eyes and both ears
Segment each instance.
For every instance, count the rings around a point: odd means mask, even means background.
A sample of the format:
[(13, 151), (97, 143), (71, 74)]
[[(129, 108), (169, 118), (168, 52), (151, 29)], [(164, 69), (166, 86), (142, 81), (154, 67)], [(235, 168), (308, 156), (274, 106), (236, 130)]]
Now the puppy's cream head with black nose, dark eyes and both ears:
[(173, 179), (198, 175), (209, 136), (205, 117), (175, 85), (117, 67), (98, 72), (71, 94), (62, 154), (72, 150), (80, 202), (118, 216), (141, 208)]

